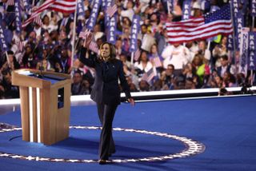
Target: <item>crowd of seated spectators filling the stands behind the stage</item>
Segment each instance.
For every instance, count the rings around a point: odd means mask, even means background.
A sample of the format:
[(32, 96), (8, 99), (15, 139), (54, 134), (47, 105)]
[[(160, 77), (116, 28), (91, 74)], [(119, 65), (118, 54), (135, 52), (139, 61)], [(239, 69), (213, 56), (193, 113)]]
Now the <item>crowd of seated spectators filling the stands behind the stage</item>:
[[(7, 0), (2, 0), (2, 5)], [(43, 1), (33, 1), (40, 6)], [(76, 23), (76, 38), (72, 42), (74, 14), (58, 13), (52, 10), (42, 12), (40, 22), (31, 22), (15, 32), (14, 6), (1, 6), (2, 26), (6, 27), (9, 46), (7, 53), (0, 50), (0, 98), (19, 97), (18, 87), (11, 84), (11, 71), (17, 69), (51, 70), (71, 74), (72, 95), (90, 94), (94, 83), (94, 69), (84, 66), (79, 60), (83, 40), (78, 38), (92, 11), (92, 1), (84, 0), (85, 16), (79, 16)], [(158, 91), (170, 89), (226, 88), (250, 82), (252, 77), (238, 73), (238, 66), (230, 50), (227, 37), (219, 35), (219, 41), (199, 40), (174, 43), (168, 41), (166, 22), (182, 19), (182, 2), (174, 1), (174, 10), (168, 11), (166, 1), (160, 0), (117, 0), (118, 22), (115, 48), (117, 58), (123, 62), (126, 80), (131, 92)], [(228, 0), (210, 0), (208, 8), (202, 7), (202, 0), (192, 0), (191, 17), (202, 17), (229, 3)], [(242, 4), (241, 4), (242, 6)], [(141, 17), (138, 34), (139, 58), (132, 60), (130, 52), (130, 30), (134, 14)], [(100, 9), (92, 31), (98, 47), (106, 42), (106, 13)], [(23, 21), (27, 14), (22, 13)], [(21, 43), (22, 42), (22, 43)], [(74, 44), (74, 57), (72, 46)], [(9, 60), (6, 60), (6, 55)], [(156, 64), (154, 58), (160, 59)], [(154, 77), (149, 76), (152, 70)]]

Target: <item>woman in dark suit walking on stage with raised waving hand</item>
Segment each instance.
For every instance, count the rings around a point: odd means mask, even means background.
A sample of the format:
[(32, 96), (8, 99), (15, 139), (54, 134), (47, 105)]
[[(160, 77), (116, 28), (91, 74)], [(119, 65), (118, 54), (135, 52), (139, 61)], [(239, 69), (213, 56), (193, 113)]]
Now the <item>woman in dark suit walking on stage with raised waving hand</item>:
[[(91, 37), (91, 35), (89, 36)], [(118, 86), (118, 79), (122, 89), (126, 93), (126, 99), (134, 105), (134, 99), (130, 96), (130, 88), (122, 68), (122, 62), (115, 58), (115, 48), (109, 42), (100, 46), (100, 53), (90, 54), (86, 58), (86, 51), (90, 45), (90, 38), (84, 43), (81, 50), (80, 61), (86, 66), (95, 69), (95, 81), (92, 86), (90, 97), (97, 103), (98, 117), (102, 123), (102, 132), (99, 145), (99, 164), (104, 165), (112, 153), (115, 153), (112, 137), (112, 122), (114, 113), (120, 104), (121, 90)]]

